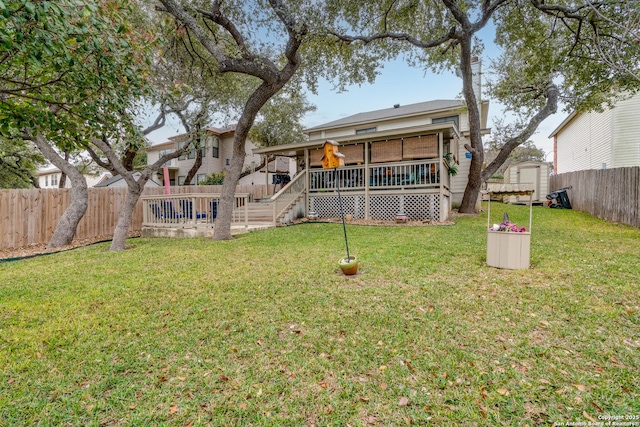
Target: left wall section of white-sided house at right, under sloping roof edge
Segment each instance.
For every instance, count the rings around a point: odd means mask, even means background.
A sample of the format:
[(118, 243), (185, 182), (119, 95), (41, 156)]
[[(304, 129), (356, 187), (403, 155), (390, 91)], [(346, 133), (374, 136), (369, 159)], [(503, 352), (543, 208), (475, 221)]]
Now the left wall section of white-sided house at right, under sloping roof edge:
[(579, 114), (557, 133), (557, 172), (611, 167), (611, 145), (611, 111)]

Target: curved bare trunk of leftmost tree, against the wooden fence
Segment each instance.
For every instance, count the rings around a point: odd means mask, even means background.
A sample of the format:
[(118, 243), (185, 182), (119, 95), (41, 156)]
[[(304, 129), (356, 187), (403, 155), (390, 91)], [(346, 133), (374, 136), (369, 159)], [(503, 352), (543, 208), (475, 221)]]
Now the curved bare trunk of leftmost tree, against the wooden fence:
[(76, 168), (56, 153), (42, 135), (36, 135), (34, 142), (40, 152), (71, 179), (71, 201), (58, 221), (53, 236), (51, 236), (51, 240), (47, 245), (49, 249), (59, 248), (71, 243), (73, 236), (76, 234), (78, 223), (87, 211), (89, 204), (87, 181)]

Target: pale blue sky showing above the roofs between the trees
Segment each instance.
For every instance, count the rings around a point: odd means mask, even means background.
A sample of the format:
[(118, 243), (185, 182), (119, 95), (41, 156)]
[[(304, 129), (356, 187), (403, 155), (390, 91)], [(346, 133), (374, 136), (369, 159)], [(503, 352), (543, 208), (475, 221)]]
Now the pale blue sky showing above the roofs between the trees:
[[(483, 74), (488, 71), (492, 58), (499, 54), (492, 43), (493, 28), (488, 26), (479, 35), (485, 43), (485, 51), (480, 57)], [(486, 79), (483, 76), (483, 82)], [(434, 74), (409, 66), (403, 60), (385, 63), (375, 82), (366, 85), (352, 85), (344, 92), (333, 90), (331, 82), (321, 81), (318, 94), (307, 94), (308, 100), (316, 106), (316, 111), (308, 113), (302, 120), (305, 128), (311, 128), (353, 114), (391, 108), (395, 104), (408, 105), (436, 99), (462, 99), (462, 80), (452, 72)], [(486, 97), (484, 97), (486, 100)], [(488, 127), (493, 127), (497, 118), (508, 117), (504, 107), (489, 99)], [(547, 118), (530, 138), (536, 147), (547, 154), (546, 160), (553, 160), (553, 140), (549, 134), (567, 117), (561, 108)], [(222, 123), (213, 124), (222, 127)], [(181, 133), (177, 122), (169, 123), (161, 131), (150, 135), (153, 144), (166, 141), (168, 136)], [(485, 137), (487, 138), (487, 137)]]

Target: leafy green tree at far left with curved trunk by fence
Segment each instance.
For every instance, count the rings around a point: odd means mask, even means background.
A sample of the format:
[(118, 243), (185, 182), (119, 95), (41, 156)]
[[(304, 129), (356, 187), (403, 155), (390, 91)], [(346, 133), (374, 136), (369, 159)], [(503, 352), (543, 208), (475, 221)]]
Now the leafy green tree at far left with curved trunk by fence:
[(145, 91), (149, 40), (130, 11), (127, 0), (0, 1), (0, 134), (32, 141), (72, 182), (48, 247), (70, 243), (87, 207), (84, 177), (59, 153), (134, 133), (125, 112)]

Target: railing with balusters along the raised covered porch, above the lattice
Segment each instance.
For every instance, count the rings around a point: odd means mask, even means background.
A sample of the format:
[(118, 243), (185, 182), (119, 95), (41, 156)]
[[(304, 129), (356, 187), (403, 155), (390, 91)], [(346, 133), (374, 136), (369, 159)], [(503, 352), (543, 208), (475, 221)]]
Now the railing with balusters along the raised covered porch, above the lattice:
[[(310, 171), (310, 191), (333, 191), (336, 182), (341, 191), (364, 190), (368, 184), (370, 190), (428, 188), (440, 185), (439, 159), (419, 162), (376, 163), (369, 165), (369, 182), (365, 179), (364, 165), (346, 166), (337, 170)], [(448, 187), (448, 174), (445, 172), (445, 186)]]

